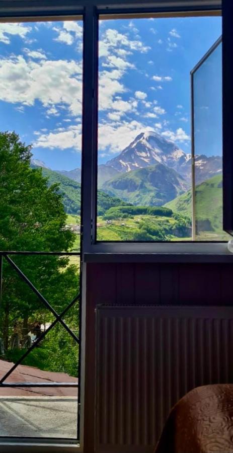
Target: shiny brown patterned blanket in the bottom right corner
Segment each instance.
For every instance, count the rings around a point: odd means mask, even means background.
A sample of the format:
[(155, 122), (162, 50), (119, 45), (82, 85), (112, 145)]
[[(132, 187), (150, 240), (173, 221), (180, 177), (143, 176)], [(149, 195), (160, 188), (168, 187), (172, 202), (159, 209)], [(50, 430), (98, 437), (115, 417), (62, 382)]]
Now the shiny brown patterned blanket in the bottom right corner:
[(155, 453), (233, 453), (233, 384), (197, 387), (170, 412)]

